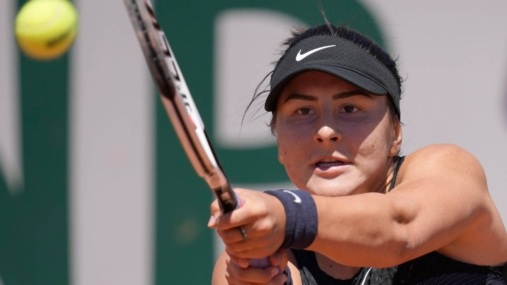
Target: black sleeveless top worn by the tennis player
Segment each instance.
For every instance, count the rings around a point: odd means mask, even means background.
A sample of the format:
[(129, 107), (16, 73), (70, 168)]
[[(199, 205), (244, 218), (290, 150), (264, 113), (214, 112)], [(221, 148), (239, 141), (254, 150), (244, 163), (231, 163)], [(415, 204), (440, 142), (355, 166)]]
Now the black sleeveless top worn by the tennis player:
[[(405, 157), (395, 161), (394, 176), (389, 191)], [(303, 285), (506, 285), (507, 263), (480, 266), (460, 262), (437, 252), (388, 268), (363, 267), (350, 279), (335, 279), (322, 271), (315, 253), (292, 250)]]

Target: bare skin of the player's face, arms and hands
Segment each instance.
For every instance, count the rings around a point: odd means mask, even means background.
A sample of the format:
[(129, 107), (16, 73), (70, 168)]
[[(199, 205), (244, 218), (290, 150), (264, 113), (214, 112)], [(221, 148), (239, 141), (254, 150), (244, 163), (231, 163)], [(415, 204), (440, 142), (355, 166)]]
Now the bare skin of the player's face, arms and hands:
[[(360, 267), (389, 267), (431, 251), (478, 265), (507, 261), (507, 234), (477, 159), (453, 145), (433, 145), (408, 155), (394, 189), (393, 156), (402, 132), (389, 116), (387, 96), (376, 96), (327, 73), (307, 71), (291, 80), (277, 104), (276, 134), (285, 170), (317, 206), (318, 232), (307, 248), (335, 278)], [(394, 152), (391, 152), (391, 149)], [(317, 164), (339, 159), (335, 165)], [(332, 167), (329, 167), (332, 166)], [(213, 284), (282, 284), (276, 267), (301, 278), (290, 251), (277, 251), (285, 213), (274, 196), (236, 189), (245, 205), (220, 215), (211, 205), (226, 252)], [(452, 207), (449, 207), (452, 205)], [(248, 239), (242, 240), (241, 226)], [(265, 269), (247, 258), (271, 258)]]

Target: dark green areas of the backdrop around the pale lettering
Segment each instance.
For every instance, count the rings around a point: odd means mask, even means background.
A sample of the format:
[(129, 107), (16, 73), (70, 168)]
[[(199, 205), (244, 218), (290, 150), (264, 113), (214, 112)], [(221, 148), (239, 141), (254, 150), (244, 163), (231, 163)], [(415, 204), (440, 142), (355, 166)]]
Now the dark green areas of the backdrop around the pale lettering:
[[(19, 0), (18, 9), (25, 2)], [(375, 21), (358, 3), (324, 1), (323, 6), (332, 22), (350, 24), (382, 45)], [(213, 110), (207, 106), (213, 106), (213, 25), (221, 11), (234, 8), (274, 10), (308, 25), (323, 23), (311, 0), (157, 1), (161, 25), (212, 141)], [(67, 284), (70, 60), (68, 55), (50, 62), (33, 61), (19, 52), (17, 56), (24, 185), (8, 189), (0, 175), (0, 276), (5, 285)], [(153, 93), (156, 96), (155, 88)], [(206, 228), (211, 192), (191, 168), (158, 100), (155, 110), (154, 280), (208, 284), (213, 265), (212, 231)], [(215, 150), (231, 181), (287, 180), (275, 147)]]

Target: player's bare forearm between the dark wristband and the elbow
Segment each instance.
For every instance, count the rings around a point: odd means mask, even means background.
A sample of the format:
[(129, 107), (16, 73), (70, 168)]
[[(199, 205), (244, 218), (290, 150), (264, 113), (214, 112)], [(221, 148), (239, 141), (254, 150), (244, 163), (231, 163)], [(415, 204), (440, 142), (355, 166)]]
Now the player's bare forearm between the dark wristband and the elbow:
[(410, 217), (401, 215), (388, 195), (313, 198), (318, 231), (308, 250), (349, 266), (388, 267), (404, 261)]

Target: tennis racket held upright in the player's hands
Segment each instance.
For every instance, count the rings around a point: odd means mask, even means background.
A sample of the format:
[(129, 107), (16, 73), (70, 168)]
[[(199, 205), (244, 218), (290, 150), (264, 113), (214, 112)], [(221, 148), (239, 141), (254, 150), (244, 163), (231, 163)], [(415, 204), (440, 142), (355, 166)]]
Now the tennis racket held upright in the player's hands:
[[(218, 198), (222, 213), (241, 207), (211, 147), (201, 116), (149, 0), (123, 0), (160, 99), (192, 166)], [(240, 229), (241, 231), (241, 229)], [(242, 235), (244, 233), (242, 232)], [(250, 266), (267, 267), (268, 258), (250, 259)]]

